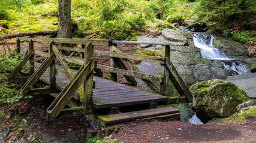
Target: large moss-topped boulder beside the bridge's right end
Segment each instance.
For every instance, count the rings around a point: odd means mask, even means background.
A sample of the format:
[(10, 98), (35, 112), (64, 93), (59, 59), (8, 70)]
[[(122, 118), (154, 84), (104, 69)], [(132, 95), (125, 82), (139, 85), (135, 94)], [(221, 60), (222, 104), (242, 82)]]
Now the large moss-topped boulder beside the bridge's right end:
[(191, 108), (203, 123), (216, 117), (231, 116), (237, 111), (237, 105), (251, 99), (245, 91), (221, 79), (195, 83), (189, 91), (193, 96)]

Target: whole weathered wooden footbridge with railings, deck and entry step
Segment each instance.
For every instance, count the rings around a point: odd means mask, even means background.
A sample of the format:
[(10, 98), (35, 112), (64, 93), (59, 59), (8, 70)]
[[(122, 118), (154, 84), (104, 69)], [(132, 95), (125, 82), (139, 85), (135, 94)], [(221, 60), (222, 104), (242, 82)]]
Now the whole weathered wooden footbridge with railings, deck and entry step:
[[(99, 119), (104, 120), (106, 124), (111, 124), (154, 116), (176, 117), (179, 116), (179, 110), (170, 107), (156, 108), (157, 105), (170, 104), (168, 101), (175, 100), (164, 96), (167, 93), (165, 89), (170, 82), (173, 83), (181, 98), (192, 101), (188, 88), (170, 61), (170, 44), (184, 46), (185, 43), (162, 43), (161, 57), (155, 57), (121, 52), (117, 43), (124, 43), (124, 41), (114, 41), (113, 43), (113, 41), (87, 39), (16, 39), (17, 52), (20, 52), (21, 49), (20, 41), (27, 41), (28, 47), (23, 47), (25, 52), (21, 61), (10, 73), (8, 80), (26, 82), (21, 89), (23, 96), (53, 95), (55, 100), (47, 108), (49, 120), (55, 120), (61, 115), (93, 114), (103, 115), (99, 116)], [(35, 42), (48, 43), (48, 52), (34, 49)], [(132, 42), (125, 43), (132, 44)], [(79, 45), (79, 47), (72, 48), (67, 45)], [(108, 46), (110, 51), (94, 50), (94, 46)], [(80, 57), (74, 57), (77, 52), (80, 53)], [(44, 57), (43, 63), (35, 62), (34, 55)], [(94, 61), (94, 55), (109, 56), (110, 66), (97, 64)], [(130, 59), (161, 64), (162, 73), (161, 75), (142, 73)], [(19, 71), (26, 63), (29, 70), (28, 76), (21, 77)], [(78, 64), (80, 69), (70, 69), (67, 63)], [(110, 71), (111, 80), (101, 78), (102, 71)], [(128, 85), (117, 83), (117, 74), (124, 75)], [(135, 77), (142, 79), (155, 93), (136, 88)], [(156, 82), (159, 83), (159, 86), (155, 84)], [(82, 103), (79, 102), (80, 99)], [(124, 111), (134, 108), (135, 111), (119, 113), (119, 108), (123, 108)], [(107, 113), (112, 114), (104, 115)]]

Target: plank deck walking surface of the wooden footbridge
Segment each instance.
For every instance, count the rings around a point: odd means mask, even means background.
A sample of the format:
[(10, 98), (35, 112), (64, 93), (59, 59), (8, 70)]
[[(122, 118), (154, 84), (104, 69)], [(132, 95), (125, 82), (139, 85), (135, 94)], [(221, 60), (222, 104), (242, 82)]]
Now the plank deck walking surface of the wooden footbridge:
[[(56, 65), (56, 69), (64, 70), (58, 65)], [(76, 70), (72, 71), (73, 73), (76, 73)], [(40, 80), (49, 83), (49, 72), (44, 72)], [(121, 107), (168, 100), (168, 97), (151, 94), (141, 89), (102, 79), (97, 76), (94, 76), (94, 81), (95, 89), (93, 89), (93, 102), (95, 108)], [(56, 74), (56, 84), (58, 89), (64, 89), (68, 82), (70, 82), (69, 79)]]

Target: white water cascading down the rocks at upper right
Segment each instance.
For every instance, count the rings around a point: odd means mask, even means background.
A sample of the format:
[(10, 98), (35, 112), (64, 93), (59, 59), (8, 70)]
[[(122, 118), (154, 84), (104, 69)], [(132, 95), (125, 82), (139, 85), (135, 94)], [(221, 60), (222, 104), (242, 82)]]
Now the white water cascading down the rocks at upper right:
[(213, 61), (222, 61), (224, 70), (230, 71), (231, 74), (244, 74), (248, 73), (245, 66), (240, 61), (234, 61), (233, 58), (228, 58), (223, 52), (219, 51), (213, 45), (213, 36), (210, 40), (205, 39), (203, 36), (195, 33), (193, 35), (194, 45), (200, 48), (202, 57)]

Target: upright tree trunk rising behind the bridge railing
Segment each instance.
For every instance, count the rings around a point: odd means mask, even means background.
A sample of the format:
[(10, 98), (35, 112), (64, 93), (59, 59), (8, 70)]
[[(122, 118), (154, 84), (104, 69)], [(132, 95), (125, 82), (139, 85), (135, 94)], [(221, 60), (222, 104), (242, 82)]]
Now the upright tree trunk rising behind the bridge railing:
[(58, 38), (72, 38), (71, 0), (59, 0)]

